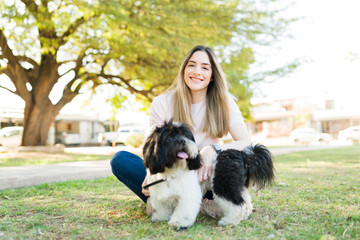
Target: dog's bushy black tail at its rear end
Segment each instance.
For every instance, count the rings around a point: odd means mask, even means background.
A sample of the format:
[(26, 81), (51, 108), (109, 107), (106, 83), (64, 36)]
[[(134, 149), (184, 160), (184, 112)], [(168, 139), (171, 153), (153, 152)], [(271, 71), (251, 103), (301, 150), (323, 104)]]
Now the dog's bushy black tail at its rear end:
[(256, 144), (244, 149), (247, 157), (244, 165), (247, 171), (245, 186), (255, 184), (259, 189), (270, 185), (275, 178), (272, 154), (264, 145)]

